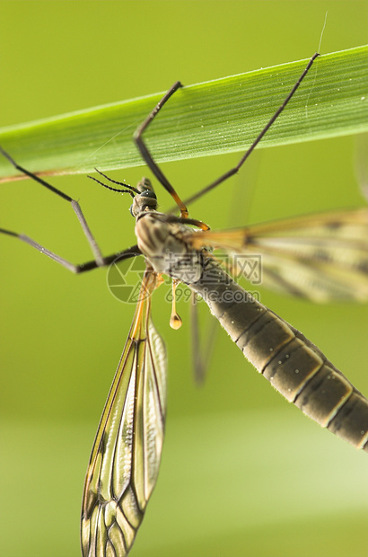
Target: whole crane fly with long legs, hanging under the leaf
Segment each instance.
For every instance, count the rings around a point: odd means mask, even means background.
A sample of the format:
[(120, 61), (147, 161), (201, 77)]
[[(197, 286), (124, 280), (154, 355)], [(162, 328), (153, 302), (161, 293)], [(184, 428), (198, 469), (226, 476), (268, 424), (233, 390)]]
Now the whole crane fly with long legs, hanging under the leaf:
[[(174, 84), (134, 135), (145, 163), (171, 193), (180, 217), (157, 210), (151, 182), (136, 188), (91, 177), (110, 190), (133, 198), (136, 219), (135, 246), (119, 259), (145, 257), (136, 313), (118, 369), (110, 387), (84, 483), (81, 542), (83, 557), (124, 557), (134, 543), (157, 480), (166, 413), (165, 347), (151, 320), (151, 295), (162, 275), (179, 282), (203, 298), (211, 314), (222, 324), (244, 356), (289, 402), (324, 428), (368, 452), (368, 401), (302, 332), (299, 332), (238, 285), (215, 257), (213, 249), (227, 252), (237, 270), (237, 256), (261, 253), (263, 282), (276, 290), (313, 301), (368, 298), (368, 210), (357, 208), (311, 215), (225, 231), (212, 231), (188, 217), (187, 205), (239, 171), (258, 142), (285, 109), (307, 75), (316, 53), (285, 102), (262, 129), (237, 166), (225, 172), (185, 202), (154, 162), (143, 134), (171, 95)], [(49, 252), (24, 234), (15, 236), (67, 270), (85, 272), (110, 265), (117, 254), (103, 257), (77, 201), (2, 154), (15, 168), (53, 191), (74, 208), (91, 245), (93, 261), (75, 266)], [(97, 169), (96, 169), (97, 170)], [(239, 266), (238, 266), (239, 267)], [(171, 326), (180, 326), (173, 306)]]

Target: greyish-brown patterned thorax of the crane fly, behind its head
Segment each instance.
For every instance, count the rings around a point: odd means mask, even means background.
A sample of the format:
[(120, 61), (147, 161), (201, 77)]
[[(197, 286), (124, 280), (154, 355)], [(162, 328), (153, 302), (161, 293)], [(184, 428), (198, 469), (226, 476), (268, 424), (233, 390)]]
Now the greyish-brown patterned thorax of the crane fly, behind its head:
[(163, 213), (149, 211), (136, 221), (138, 247), (153, 270), (173, 279), (192, 284), (203, 272), (203, 257), (191, 248), (186, 237), (191, 229), (180, 223), (168, 223)]

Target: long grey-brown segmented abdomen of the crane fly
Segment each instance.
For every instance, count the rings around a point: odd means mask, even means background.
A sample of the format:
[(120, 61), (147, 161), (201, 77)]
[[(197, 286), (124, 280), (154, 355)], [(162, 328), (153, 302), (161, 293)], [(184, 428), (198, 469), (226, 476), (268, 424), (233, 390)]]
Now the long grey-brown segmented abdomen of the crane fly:
[(289, 402), (368, 452), (368, 400), (301, 332), (260, 304), (211, 258), (195, 284), (212, 314)]

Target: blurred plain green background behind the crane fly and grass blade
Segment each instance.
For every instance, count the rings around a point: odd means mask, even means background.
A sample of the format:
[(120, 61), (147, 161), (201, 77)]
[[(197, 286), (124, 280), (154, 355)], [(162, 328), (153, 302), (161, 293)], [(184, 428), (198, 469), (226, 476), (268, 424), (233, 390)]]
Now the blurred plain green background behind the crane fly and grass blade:
[[(310, 57), (326, 11), (322, 54), (367, 42), (366, 1), (2, 1), (0, 11), (2, 126)], [(163, 170), (193, 192), (238, 158)], [(191, 216), (220, 228), (356, 207), (364, 170), (354, 137), (260, 150)], [(114, 177), (134, 184), (143, 173)], [(134, 243), (128, 199), (83, 176), (52, 182), (80, 200), (103, 252)], [(91, 258), (71, 208), (37, 184), (2, 184), (0, 196), (2, 226), (70, 261)], [(74, 557), (83, 477), (134, 308), (110, 295), (106, 270), (74, 277), (12, 238), (0, 245), (1, 554)], [(188, 308), (171, 331), (163, 295), (153, 319), (169, 352), (167, 436), (132, 556), (366, 555), (366, 455), (287, 404), (224, 332), (197, 389)], [(366, 308), (261, 300), (368, 393)]]

